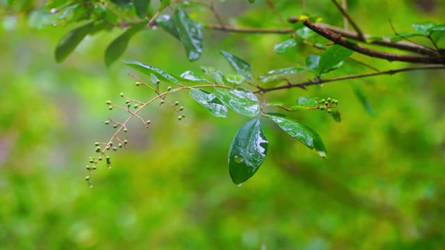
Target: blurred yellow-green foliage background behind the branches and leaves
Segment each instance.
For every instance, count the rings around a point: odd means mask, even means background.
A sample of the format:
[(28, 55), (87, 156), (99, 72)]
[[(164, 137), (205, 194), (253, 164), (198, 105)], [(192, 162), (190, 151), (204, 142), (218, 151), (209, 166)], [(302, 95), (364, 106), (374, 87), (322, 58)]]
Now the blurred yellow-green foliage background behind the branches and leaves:
[[(284, 18), (300, 15), (300, 1), (274, 1)], [(71, 27), (47, 25), (47, 13), (0, 7), (0, 249), (442, 249), (445, 246), (445, 72), (407, 72), (274, 92), (268, 100), (291, 106), (298, 97), (339, 100), (342, 122), (319, 111), (289, 117), (323, 138), (323, 160), (270, 121), (268, 156), (241, 187), (229, 177), (227, 152), (248, 119), (234, 112), (212, 117), (177, 93), (187, 118), (152, 106), (152, 126), (131, 124), (129, 147), (112, 153), (84, 181), (94, 143), (113, 128), (105, 101), (120, 92), (145, 100), (120, 62), (104, 66), (104, 48), (122, 31), (88, 37), (64, 63), (54, 61), (58, 40)], [(42, 6), (42, 3), (29, 3)], [(341, 25), (327, 0), (307, 2), (323, 22)], [(26, 8), (25, 8), (26, 9)], [(228, 24), (283, 27), (266, 1), (216, 1)], [(27, 9), (31, 10), (31, 9)], [(213, 23), (201, 10), (191, 17)], [(444, 1), (350, 1), (366, 33), (412, 31), (412, 22), (444, 22)], [(136, 35), (122, 59), (180, 74), (200, 65), (229, 73), (216, 52), (248, 60), (255, 76), (276, 67), (303, 65), (309, 47), (277, 55), (287, 35), (204, 31), (204, 53), (189, 63), (181, 44), (161, 31)], [(445, 40), (445, 39), (443, 39)], [(428, 42), (428, 41), (419, 41)], [(443, 44), (443, 43), (442, 43)], [(380, 69), (404, 67), (354, 55)], [(369, 72), (346, 63), (330, 76)], [(293, 81), (305, 81), (301, 75)], [(366, 111), (354, 90), (372, 107)]]

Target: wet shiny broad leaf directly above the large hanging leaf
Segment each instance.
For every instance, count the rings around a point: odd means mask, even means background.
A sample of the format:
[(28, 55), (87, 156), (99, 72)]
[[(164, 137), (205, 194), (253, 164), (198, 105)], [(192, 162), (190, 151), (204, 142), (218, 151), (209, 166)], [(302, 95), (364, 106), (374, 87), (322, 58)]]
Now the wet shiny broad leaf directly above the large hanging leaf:
[(255, 117), (259, 114), (259, 101), (257, 96), (249, 90), (237, 87), (234, 90), (216, 89), (216, 96), (223, 103), (232, 108), (236, 113), (247, 117)]

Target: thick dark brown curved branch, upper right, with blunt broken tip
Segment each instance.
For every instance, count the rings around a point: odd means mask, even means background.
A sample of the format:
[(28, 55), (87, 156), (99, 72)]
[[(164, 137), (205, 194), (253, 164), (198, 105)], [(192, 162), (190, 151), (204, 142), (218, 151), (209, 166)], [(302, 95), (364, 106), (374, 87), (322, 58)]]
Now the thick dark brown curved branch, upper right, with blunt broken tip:
[(318, 35), (323, 36), (327, 40), (330, 40), (334, 42), (335, 44), (339, 44), (345, 48), (348, 48), (352, 51), (355, 51), (357, 53), (364, 54), (366, 56), (371, 56), (374, 58), (380, 58), (380, 59), (386, 59), (389, 61), (400, 61), (400, 62), (407, 62), (407, 63), (427, 63), (427, 64), (445, 64), (445, 57), (444, 56), (436, 56), (436, 57), (424, 57), (424, 56), (405, 56), (405, 55), (398, 55), (398, 54), (392, 54), (392, 53), (386, 53), (381, 51), (375, 51), (373, 49), (368, 49), (365, 47), (361, 47), (357, 44), (354, 44), (352, 42), (348, 42), (344, 38), (341, 37), (340, 34), (334, 33), (327, 28), (323, 28), (321, 26), (315, 25), (313, 22), (310, 22), (309, 20), (305, 20), (303, 22), (307, 28), (310, 28), (315, 33), (318, 33)]

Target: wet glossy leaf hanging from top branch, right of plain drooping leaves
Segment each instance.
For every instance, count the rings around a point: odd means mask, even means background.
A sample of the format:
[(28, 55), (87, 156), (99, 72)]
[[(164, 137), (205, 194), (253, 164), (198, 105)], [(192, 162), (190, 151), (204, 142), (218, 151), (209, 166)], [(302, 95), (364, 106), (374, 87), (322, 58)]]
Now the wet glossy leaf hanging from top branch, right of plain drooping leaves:
[(202, 33), (200, 28), (179, 7), (176, 8), (173, 19), (177, 27), (179, 40), (181, 40), (186, 49), (188, 60), (197, 60), (202, 53)]

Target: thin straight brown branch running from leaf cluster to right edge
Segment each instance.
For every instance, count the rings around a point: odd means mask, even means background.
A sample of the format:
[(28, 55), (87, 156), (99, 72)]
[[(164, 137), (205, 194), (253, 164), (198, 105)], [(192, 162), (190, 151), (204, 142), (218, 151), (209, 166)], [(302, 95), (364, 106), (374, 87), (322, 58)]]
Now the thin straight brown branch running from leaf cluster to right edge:
[(373, 73), (367, 73), (367, 74), (355, 74), (352, 76), (341, 76), (341, 77), (337, 77), (337, 78), (330, 78), (330, 79), (321, 79), (318, 78), (316, 81), (307, 81), (304, 83), (289, 83), (287, 85), (282, 85), (282, 86), (277, 86), (277, 87), (273, 87), (273, 88), (261, 88), (261, 87), (257, 87), (259, 90), (254, 91), (255, 94), (259, 94), (259, 93), (266, 93), (266, 92), (271, 92), (271, 91), (275, 91), (275, 90), (286, 90), (286, 89), (290, 89), (290, 88), (305, 88), (307, 86), (310, 85), (318, 85), (321, 83), (330, 83), (330, 82), (334, 82), (334, 81), (344, 81), (344, 80), (351, 80), (351, 79), (356, 79), (356, 78), (365, 78), (365, 77), (371, 77), (371, 76), (380, 76), (380, 75), (393, 75), (393, 74), (397, 74), (400, 72), (409, 72), (409, 71), (413, 71), (413, 70), (429, 70), (429, 69), (445, 69), (445, 66), (430, 66), (430, 67), (406, 67), (406, 68), (401, 68), (401, 69), (391, 69), (391, 70), (387, 70), (384, 72), (373, 72)]

